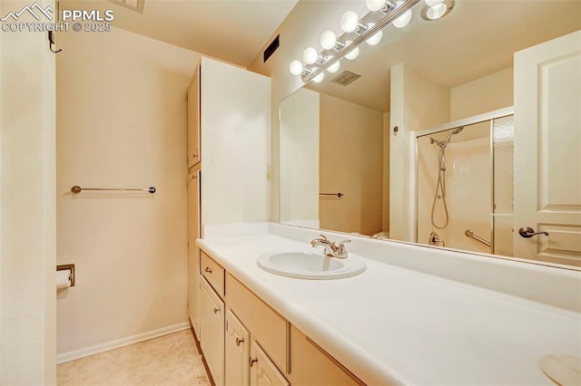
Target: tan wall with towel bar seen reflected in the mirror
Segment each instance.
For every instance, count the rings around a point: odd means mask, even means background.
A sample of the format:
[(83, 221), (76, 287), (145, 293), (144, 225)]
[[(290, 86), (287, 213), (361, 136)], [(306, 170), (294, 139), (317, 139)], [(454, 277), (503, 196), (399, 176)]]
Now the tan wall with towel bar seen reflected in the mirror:
[(383, 114), (320, 95), (320, 227), (372, 235), (382, 229)]

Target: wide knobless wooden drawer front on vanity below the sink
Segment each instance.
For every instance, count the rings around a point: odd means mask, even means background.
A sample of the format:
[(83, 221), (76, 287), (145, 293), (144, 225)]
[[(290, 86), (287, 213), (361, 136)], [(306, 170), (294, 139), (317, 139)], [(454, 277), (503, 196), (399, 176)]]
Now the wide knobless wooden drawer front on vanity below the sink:
[(230, 274), (226, 275), (226, 295), (226, 303), (272, 362), (283, 372), (290, 372), (291, 324)]

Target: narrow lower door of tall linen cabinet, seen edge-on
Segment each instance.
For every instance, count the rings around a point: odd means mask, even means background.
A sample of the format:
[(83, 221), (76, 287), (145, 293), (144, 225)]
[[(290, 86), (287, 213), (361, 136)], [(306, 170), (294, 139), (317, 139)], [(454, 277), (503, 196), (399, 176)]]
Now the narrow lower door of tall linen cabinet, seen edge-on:
[(188, 176), (188, 314), (193, 331), (200, 337), (200, 171)]

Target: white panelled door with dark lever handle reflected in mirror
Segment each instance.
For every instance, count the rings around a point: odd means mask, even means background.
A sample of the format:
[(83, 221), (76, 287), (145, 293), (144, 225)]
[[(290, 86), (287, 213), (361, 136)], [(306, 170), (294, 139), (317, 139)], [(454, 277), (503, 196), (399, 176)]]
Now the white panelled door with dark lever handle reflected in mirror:
[(514, 232), (516, 257), (581, 265), (581, 31), (515, 53)]

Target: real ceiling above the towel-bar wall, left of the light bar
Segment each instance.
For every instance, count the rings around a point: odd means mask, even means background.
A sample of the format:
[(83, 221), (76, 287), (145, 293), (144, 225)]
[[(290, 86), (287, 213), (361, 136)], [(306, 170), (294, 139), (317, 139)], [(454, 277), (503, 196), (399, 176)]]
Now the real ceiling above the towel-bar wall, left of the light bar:
[(60, 8), (113, 9), (113, 26), (247, 67), (298, 0), (145, 0), (143, 14), (103, 0)]

